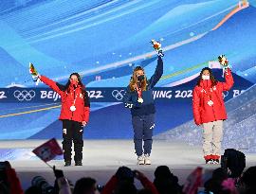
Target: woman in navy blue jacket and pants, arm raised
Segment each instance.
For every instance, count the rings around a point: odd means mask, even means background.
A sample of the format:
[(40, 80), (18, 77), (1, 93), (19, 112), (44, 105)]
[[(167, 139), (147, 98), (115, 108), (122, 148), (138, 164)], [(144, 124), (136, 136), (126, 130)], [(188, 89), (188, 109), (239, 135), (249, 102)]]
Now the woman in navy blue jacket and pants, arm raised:
[[(138, 165), (151, 165), (152, 136), (155, 127), (155, 102), (153, 88), (163, 74), (163, 61), (158, 56), (155, 73), (147, 79), (144, 69), (137, 66), (123, 98), (125, 107), (131, 109), (134, 142)], [(142, 140), (144, 146), (142, 149)]]

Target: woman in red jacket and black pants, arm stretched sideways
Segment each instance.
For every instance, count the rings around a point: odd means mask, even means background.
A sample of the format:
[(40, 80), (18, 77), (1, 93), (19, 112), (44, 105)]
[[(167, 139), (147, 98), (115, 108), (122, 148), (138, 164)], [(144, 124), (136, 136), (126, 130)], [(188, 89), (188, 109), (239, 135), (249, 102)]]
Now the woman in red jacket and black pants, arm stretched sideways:
[(62, 111), (59, 119), (63, 121), (65, 166), (71, 165), (72, 140), (75, 165), (82, 166), (82, 131), (89, 120), (90, 102), (81, 77), (78, 73), (71, 74), (66, 85), (61, 85), (45, 76), (39, 76), (39, 79), (62, 98)]

